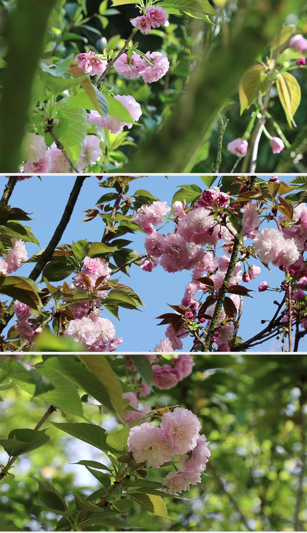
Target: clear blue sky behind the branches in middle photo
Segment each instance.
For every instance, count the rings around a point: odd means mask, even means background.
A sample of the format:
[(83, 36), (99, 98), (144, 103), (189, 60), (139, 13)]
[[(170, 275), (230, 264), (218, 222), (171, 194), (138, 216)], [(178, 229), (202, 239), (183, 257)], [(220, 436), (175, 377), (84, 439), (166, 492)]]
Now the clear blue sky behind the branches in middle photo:
[[(264, 176), (265, 178), (265, 176)], [(283, 181), (291, 181), (293, 176), (282, 178)], [(38, 177), (18, 182), (14, 188), (10, 203), (13, 207), (20, 207), (27, 213), (33, 213), (33, 220), (26, 222), (40, 246), (44, 248), (49, 243), (53, 231), (58, 224), (64, 207), (66, 205), (69, 192), (73, 187), (74, 176), (43, 176), (41, 181)], [(0, 187), (3, 191), (7, 179), (0, 177)], [(89, 241), (100, 241), (103, 235), (104, 223), (100, 217), (90, 221), (81, 222), (85, 209), (95, 207), (97, 200), (108, 189), (99, 187), (96, 176), (86, 178), (81, 194), (77, 199), (73, 215), (64, 232), (60, 244), (71, 244), (72, 241), (88, 239)], [(149, 176), (139, 178), (131, 183), (129, 193), (132, 194), (137, 189), (147, 189), (160, 200), (167, 200), (171, 205), (171, 199), (178, 185), (195, 183), (199, 187), (205, 188), (199, 176)], [(144, 253), (144, 233), (136, 232), (135, 235), (128, 233), (129, 240), (133, 243), (129, 245), (135, 248), (138, 253)], [(29, 257), (38, 251), (37, 245), (26, 244)], [(262, 265), (261, 265), (262, 266)], [(22, 276), (27, 276), (33, 268), (33, 263), (25, 264), (18, 271)], [(175, 273), (165, 272), (161, 266), (155, 268), (151, 273), (144, 272), (138, 266), (132, 265), (130, 278), (120, 273), (121, 281), (135, 290), (143, 302), (145, 308), (139, 311), (131, 311), (120, 308), (120, 321), (110, 315), (107, 311), (105, 316), (110, 318), (116, 328), (116, 336), (124, 339), (120, 349), (123, 351), (148, 351), (163, 338), (165, 327), (157, 326), (159, 320), (155, 317), (164, 312), (168, 312), (169, 304), (181, 302), (185, 285), (191, 280), (191, 272), (182, 271)], [(282, 273), (278, 268), (272, 267), (272, 272), (262, 267), (262, 272), (254, 281), (247, 284), (249, 289), (254, 289), (253, 298), (244, 298), (243, 313), (239, 334), (243, 339), (247, 339), (261, 330), (261, 319), (270, 319), (275, 312), (273, 300), (279, 295), (272, 292), (258, 293), (259, 282), (266, 280), (270, 286), (278, 287), (282, 281)], [(184, 349), (189, 351), (192, 340), (184, 340)], [(303, 343), (300, 346), (304, 348)], [(117, 349), (119, 351), (120, 349)], [(256, 350), (256, 348), (254, 349)], [(279, 351), (280, 343), (274, 338), (260, 345), (257, 351)]]

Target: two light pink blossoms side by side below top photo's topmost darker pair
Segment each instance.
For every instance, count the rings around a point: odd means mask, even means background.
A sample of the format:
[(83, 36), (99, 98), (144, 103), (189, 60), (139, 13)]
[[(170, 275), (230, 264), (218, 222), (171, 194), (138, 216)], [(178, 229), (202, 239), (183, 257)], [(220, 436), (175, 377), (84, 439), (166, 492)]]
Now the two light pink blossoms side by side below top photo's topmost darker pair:
[(162, 52), (147, 52), (147, 58), (140, 58), (136, 52), (132, 52), (129, 59), (127, 54), (120, 55), (114, 63), (116, 72), (126, 78), (143, 78), (145, 83), (158, 82), (169, 70), (169, 60)]

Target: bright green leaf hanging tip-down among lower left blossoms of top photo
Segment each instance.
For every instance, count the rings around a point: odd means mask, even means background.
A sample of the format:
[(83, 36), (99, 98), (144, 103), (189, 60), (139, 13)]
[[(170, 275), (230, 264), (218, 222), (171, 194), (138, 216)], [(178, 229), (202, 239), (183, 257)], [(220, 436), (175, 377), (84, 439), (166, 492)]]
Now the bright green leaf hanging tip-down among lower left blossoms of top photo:
[(60, 136), (60, 141), (76, 163), (88, 131), (88, 114), (85, 109), (66, 109), (65, 112), (59, 112), (58, 118), (61, 119), (61, 116), (68, 121), (68, 125), (67, 130)]

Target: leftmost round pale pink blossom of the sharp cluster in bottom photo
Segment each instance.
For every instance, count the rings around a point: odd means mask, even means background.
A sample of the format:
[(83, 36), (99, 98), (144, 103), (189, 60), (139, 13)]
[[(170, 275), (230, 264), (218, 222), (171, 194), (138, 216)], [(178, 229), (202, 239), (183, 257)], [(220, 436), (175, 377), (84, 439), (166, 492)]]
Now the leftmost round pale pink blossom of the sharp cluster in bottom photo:
[(146, 463), (147, 468), (159, 468), (171, 460), (174, 448), (160, 427), (148, 422), (131, 428), (128, 437), (128, 451), (132, 451), (137, 463)]

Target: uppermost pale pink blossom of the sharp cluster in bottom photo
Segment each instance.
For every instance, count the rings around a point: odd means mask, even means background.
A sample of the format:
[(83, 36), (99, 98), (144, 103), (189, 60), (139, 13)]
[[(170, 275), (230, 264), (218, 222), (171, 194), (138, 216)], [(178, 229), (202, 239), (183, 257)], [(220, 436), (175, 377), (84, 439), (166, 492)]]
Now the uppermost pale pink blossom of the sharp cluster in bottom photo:
[(192, 411), (175, 407), (174, 411), (163, 414), (160, 427), (174, 446), (175, 453), (186, 454), (195, 448), (201, 424)]

